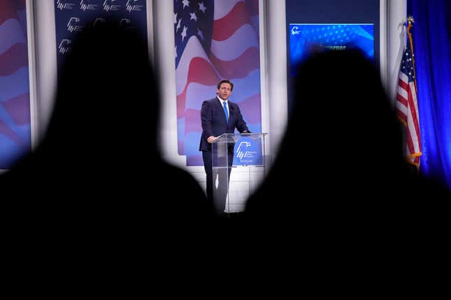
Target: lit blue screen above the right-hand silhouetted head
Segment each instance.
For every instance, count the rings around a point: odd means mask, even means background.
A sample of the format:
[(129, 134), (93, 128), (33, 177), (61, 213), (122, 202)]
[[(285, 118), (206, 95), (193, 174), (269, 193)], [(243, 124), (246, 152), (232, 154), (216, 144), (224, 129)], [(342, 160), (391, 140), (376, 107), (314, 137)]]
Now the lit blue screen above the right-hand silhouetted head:
[(312, 50), (359, 49), (374, 59), (374, 24), (289, 24), (292, 75), (297, 63)]

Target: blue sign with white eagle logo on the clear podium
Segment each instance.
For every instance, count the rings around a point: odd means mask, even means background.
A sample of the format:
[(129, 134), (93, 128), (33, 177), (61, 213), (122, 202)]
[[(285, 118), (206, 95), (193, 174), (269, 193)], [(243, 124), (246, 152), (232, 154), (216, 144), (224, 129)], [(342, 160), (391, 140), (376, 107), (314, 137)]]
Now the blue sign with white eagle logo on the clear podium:
[(263, 165), (262, 140), (241, 137), (236, 141), (234, 165)]

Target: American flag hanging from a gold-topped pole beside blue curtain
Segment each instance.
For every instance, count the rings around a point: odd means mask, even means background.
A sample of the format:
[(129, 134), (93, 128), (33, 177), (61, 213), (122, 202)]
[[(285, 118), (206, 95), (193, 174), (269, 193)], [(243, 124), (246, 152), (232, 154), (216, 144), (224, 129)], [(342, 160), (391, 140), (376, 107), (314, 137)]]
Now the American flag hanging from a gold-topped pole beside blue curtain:
[(417, 83), (415, 81), (415, 59), (410, 29), (413, 18), (408, 18), (408, 42), (404, 49), (398, 77), (396, 94), (396, 114), (406, 127), (406, 157), (408, 162), (420, 167), (421, 136), (418, 118)]

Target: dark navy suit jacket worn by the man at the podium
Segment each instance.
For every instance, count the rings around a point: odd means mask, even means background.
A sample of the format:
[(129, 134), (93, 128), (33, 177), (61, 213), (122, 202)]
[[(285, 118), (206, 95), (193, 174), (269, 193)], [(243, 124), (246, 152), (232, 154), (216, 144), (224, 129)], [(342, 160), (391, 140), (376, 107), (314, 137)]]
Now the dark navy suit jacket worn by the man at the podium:
[(214, 135), (219, 137), (224, 133), (234, 133), (235, 128), (240, 133), (250, 133), (246, 122), (241, 115), (238, 104), (229, 101), (229, 123), (224, 114), (220, 100), (215, 97), (203, 101), (201, 109), (202, 136), (199, 151), (211, 151), (211, 144), (207, 142), (208, 137)]

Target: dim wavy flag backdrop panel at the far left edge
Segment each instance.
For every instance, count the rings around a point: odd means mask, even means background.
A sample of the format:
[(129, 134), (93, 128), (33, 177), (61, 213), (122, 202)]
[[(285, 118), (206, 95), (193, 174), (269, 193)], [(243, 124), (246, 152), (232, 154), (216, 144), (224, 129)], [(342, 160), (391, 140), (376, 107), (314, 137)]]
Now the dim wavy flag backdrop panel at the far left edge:
[(0, 169), (30, 149), (25, 0), (0, 0)]

